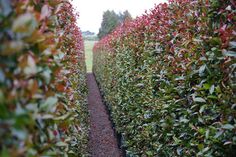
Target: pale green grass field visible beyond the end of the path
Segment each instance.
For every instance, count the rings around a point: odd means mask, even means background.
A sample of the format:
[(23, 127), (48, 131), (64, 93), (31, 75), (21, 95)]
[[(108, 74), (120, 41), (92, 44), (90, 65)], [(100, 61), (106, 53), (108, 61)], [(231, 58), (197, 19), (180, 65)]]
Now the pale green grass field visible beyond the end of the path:
[(96, 41), (88, 41), (88, 40), (84, 41), (87, 72), (92, 72), (93, 45), (94, 45), (95, 42)]

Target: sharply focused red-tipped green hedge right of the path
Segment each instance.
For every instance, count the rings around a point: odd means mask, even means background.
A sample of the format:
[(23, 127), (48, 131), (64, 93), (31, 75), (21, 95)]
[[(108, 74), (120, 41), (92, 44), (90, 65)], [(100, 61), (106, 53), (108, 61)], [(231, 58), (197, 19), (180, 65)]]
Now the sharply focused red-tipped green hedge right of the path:
[(235, 156), (236, 3), (170, 0), (94, 47), (128, 156)]

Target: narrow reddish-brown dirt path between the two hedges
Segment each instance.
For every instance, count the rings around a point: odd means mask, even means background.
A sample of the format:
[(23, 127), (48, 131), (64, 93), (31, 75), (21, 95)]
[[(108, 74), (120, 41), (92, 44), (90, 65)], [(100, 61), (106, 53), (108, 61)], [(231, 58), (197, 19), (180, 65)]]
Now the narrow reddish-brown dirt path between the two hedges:
[(121, 157), (112, 124), (92, 73), (87, 74), (90, 114), (89, 151), (92, 157)]

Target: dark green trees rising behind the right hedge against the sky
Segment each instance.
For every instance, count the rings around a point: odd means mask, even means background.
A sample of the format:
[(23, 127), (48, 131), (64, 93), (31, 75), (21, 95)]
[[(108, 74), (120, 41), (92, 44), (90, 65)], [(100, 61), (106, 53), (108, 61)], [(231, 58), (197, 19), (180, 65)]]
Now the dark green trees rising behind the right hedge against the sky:
[(101, 39), (105, 35), (109, 34), (116, 28), (119, 24), (121, 24), (125, 20), (131, 20), (132, 16), (128, 10), (123, 13), (115, 13), (114, 10), (107, 10), (103, 13), (103, 19), (101, 23), (101, 27), (98, 32), (98, 38)]

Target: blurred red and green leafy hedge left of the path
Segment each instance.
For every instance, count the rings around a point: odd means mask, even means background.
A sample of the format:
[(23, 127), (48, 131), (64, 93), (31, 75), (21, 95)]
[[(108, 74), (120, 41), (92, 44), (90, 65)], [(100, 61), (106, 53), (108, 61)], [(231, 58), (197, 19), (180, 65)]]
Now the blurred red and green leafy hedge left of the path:
[(0, 0), (0, 156), (82, 156), (84, 47), (67, 0)]

